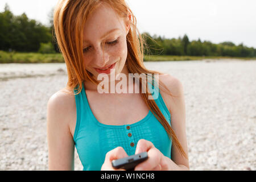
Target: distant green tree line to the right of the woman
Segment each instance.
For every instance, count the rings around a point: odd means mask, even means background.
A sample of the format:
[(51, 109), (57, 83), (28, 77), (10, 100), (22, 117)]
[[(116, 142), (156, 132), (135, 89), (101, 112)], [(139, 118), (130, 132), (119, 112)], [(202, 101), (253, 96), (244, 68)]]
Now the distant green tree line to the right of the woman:
[(148, 48), (145, 54), (151, 55), (177, 55), (177, 56), (230, 56), (230, 57), (255, 57), (256, 49), (236, 46), (232, 42), (214, 44), (209, 41), (202, 42), (200, 39), (189, 41), (187, 35), (178, 39), (165, 39), (161, 36), (150, 36), (147, 32), (142, 34), (146, 39)]

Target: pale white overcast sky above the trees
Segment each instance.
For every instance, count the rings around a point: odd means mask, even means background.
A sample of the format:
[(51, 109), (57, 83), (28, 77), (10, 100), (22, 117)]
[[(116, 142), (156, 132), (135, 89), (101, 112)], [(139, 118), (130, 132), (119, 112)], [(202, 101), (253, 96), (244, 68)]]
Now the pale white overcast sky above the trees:
[[(126, 0), (137, 18), (139, 31), (166, 38), (184, 34), (189, 40), (212, 43), (231, 41), (256, 48), (255, 0)], [(57, 0), (0, 0), (2, 12), (8, 3), (15, 15), (48, 23)]]

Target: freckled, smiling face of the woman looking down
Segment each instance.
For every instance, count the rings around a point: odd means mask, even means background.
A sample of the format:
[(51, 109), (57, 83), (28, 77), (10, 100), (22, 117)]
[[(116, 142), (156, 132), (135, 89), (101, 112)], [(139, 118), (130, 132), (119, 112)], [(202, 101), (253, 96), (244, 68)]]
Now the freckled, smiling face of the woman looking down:
[[(110, 76), (110, 69), (114, 69), (115, 77), (119, 73), (127, 73), (126, 35), (130, 29), (129, 18), (127, 20), (125, 23), (111, 7), (104, 4), (86, 19), (83, 32), (84, 64), (96, 80), (100, 73)], [(110, 69), (100, 70), (109, 65), (112, 65)]]

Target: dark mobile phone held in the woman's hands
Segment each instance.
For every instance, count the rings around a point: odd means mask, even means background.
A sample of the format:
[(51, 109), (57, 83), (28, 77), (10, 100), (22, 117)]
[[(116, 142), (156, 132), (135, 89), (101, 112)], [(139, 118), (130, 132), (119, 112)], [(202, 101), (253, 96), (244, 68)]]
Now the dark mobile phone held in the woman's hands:
[(112, 166), (115, 169), (126, 169), (127, 171), (134, 171), (134, 168), (142, 163), (144, 160), (147, 160), (147, 152), (142, 152), (136, 155), (130, 155), (126, 158), (112, 160)]

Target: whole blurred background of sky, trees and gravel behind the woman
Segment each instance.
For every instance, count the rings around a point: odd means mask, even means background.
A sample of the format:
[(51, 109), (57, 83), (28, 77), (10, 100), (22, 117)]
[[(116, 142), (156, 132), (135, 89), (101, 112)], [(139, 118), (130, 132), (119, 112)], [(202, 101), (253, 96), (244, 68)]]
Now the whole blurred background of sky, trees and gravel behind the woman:
[[(126, 2), (146, 67), (183, 83), (191, 169), (255, 170), (256, 2)], [(47, 102), (67, 84), (56, 3), (0, 1), (0, 170), (48, 169)]]

